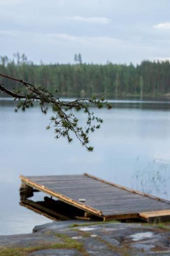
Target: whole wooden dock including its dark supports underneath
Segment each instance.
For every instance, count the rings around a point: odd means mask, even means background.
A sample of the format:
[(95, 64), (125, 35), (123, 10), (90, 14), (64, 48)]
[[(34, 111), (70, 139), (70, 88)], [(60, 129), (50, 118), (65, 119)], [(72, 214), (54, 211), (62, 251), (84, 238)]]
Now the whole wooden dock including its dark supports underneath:
[[(49, 199), (45, 205), (37, 204), (36, 210), (39, 212), (43, 209), (47, 217), (52, 212), (52, 219), (57, 219), (55, 210), (59, 210), (59, 216), (62, 215), (65, 219), (142, 219), (147, 222), (170, 220), (170, 201), (89, 174), (20, 176), (20, 179), (21, 191), (27, 191), (27, 196), (24, 199), (22, 197), (21, 204), (30, 209), (36, 208), (36, 203), (26, 198), (32, 196), (34, 191), (42, 191), (53, 199)], [(50, 200), (54, 199), (57, 201), (52, 204)], [(49, 205), (53, 207), (50, 208)]]

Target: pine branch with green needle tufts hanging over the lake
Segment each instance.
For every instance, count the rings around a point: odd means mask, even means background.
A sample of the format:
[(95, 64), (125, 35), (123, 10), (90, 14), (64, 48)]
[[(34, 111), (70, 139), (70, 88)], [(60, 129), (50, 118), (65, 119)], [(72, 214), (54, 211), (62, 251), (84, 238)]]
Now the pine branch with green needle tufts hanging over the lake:
[[(73, 133), (88, 151), (93, 150), (93, 147), (89, 146), (88, 134), (89, 132), (94, 132), (96, 129), (99, 129), (99, 123), (102, 123), (103, 120), (94, 116), (94, 113), (90, 111), (89, 103), (97, 106), (99, 109), (101, 109), (104, 105), (110, 109), (111, 105), (108, 104), (107, 101), (104, 101), (103, 98), (97, 100), (95, 97), (92, 97), (91, 99), (76, 99), (71, 102), (67, 102), (55, 97), (55, 95), (46, 89), (36, 87), (34, 84), (23, 81), (22, 79), (14, 78), (1, 73), (0, 76), (17, 81), (22, 84), (23, 88), (26, 89), (26, 93), (23, 95), (18, 92), (8, 90), (4, 84), (0, 83), (0, 91), (12, 96), (14, 100), (18, 99), (17, 107), (15, 109), (16, 112), (19, 109), (25, 111), (26, 109), (31, 108), (34, 106), (35, 101), (39, 103), (41, 112), (43, 114), (47, 113), (47, 106), (50, 106), (54, 115), (50, 118), (50, 124), (46, 127), (46, 129), (48, 130), (53, 126), (56, 134), (55, 138), (59, 139), (60, 137), (64, 137), (69, 143), (72, 142), (70, 134)], [(87, 115), (86, 126), (84, 128), (79, 125), (79, 119), (76, 117), (75, 111), (84, 111), (84, 113)]]

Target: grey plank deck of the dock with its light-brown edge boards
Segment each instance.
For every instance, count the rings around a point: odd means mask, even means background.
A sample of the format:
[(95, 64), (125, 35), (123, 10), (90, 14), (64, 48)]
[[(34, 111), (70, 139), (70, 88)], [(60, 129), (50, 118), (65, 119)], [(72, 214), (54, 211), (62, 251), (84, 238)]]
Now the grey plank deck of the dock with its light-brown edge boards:
[[(162, 210), (169, 211), (170, 216), (169, 201), (140, 193), (89, 174), (21, 176), (20, 178), (27, 186), (82, 209), (86, 212), (85, 218), (90, 218), (90, 216), (97, 216), (105, 220), (142, 218), (148, 221), (140, 214), (155, 211), (158, 212), (159, 217), (159, 212)], [(79, 199), (81, 198), (85, 201), (80, 202)]]

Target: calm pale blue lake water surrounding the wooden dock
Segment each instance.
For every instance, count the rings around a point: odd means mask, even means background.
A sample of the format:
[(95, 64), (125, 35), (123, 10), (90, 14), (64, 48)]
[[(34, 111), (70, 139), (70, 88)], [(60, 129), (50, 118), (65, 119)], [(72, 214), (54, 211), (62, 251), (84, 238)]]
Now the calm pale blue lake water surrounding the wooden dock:
[(56, 141), (38, 107), (14, 113), (14, 106), (0, 99), (0, 234), (28, 233), (51, 221), (19, 205), (20, 174), (87, 172), (170, 200), (169, 101), (117, 100), (110, 111), (93, 109), (104, 119), (90, 137), (93, 153), (78, 141)]

